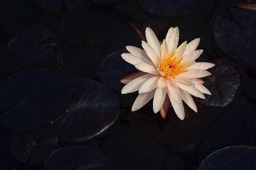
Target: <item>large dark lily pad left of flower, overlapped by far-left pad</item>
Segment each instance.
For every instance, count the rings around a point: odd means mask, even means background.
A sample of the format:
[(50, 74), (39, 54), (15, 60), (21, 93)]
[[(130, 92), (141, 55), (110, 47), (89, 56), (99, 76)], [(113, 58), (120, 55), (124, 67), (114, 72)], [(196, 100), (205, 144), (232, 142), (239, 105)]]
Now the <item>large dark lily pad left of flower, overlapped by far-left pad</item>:
[(91, 79), (74, 80), (74, 95), (66, 113), (54, 121), (60, 140), (86, 141), (99, 135), (119, 117), (117, 95)]

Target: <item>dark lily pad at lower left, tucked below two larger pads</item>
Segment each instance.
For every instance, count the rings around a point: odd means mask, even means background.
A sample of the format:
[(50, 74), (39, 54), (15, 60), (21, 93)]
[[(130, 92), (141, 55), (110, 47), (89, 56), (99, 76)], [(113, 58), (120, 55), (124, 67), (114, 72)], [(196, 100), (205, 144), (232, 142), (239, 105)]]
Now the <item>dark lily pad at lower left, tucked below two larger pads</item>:
[(17, 132), (11, 140), (11, 153), (22, 163), (38, 164), (57, 149), (58, 135), (53, 126), (32, 132)]

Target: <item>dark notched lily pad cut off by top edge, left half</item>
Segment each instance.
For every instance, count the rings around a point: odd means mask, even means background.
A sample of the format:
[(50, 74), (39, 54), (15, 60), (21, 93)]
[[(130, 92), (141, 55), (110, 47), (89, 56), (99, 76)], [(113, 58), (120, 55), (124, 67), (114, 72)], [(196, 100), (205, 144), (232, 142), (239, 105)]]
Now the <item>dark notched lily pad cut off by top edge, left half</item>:
[(65, 4), (65, 7), (69, 11), (73, 11), (85, 4), (88, 4), (89, 0), (33, 0), (40, 8), (47, 11), (60, 11)]

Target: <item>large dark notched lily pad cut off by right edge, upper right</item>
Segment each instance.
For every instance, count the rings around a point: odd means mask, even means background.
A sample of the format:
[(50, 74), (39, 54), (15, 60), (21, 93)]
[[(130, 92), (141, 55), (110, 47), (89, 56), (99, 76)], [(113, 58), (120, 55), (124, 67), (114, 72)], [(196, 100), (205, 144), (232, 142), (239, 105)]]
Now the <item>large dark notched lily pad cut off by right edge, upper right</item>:
[(256, 68), (256, 11), (237, 7), (230, 13), (236, 21), (217, 17), (214, 40), (229, 59), (246, 68)]

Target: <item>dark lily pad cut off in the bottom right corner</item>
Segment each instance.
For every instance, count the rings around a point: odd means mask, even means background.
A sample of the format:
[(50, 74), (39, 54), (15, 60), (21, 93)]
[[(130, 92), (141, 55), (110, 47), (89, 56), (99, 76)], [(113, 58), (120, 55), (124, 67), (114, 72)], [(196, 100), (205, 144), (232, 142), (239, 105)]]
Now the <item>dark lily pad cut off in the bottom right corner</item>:
[(206, 157), (198, 170), (254, 170), (256, 147), (238, 145), (216, 150)]

